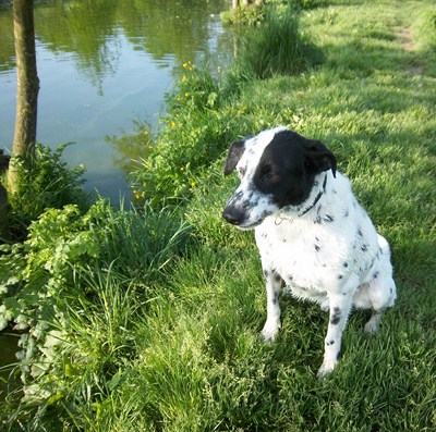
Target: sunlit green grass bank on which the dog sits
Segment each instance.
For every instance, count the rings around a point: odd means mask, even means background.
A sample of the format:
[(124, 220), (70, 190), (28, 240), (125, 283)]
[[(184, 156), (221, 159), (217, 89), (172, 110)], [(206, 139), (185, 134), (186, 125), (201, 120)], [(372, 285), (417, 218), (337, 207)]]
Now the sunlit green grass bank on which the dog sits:
[[(149, 210), (144, 225), (137, 213), (106, 209), (92, 220), (102, 223), (81, 225), (100, 252), (53, 294), (57, 313), (44, 337), (34, 338), (46, 372), (17, 367), (26, 397), (16, 391), (3, 404), (4, 428), (435, 430), (436, 33), (433, 21), (423, 18), (434, 11), (429, 0), (331, 0), (303, 12), (301, 25), (324, 63), (295, 76), (241, 82), (219, 101), (222, 116), (213, 103), (202, 115), (192, 113), (205, 122), (210, 112), (213, 127), (186, 122), (180, 135), (180, 146), (191, 132), (195, 136), (190, 128), (207, 129), (213, 139), (227, 119), (229, 127), (219, 135), (226, 139), (249, 126), (254, 134), (284, 124), (323, 140), (392, 247), (398, 301), (379, 334), (364, 335), (368, 312), (354, 312), (338, 368), (317, 380), (328, 317), (283, 296), (277, 343), (261, 341), (261, 262), (253, 234), (221, 220), (237, 178), (225, 180), (225, 155), (215, 149), (208, 164), (191, 173), (195, 187), (178, 209)], [(227, 114), (235, 103), (241, 113)], [(171, 121), (170, 112), (168, 128)], [(160, 233), (168, 247), (158, 243)], [(50, 245), (44, 250), (51, 247), (55, 256), (57, 244)], [(63, 275), (74, 262), (69, 257)]]

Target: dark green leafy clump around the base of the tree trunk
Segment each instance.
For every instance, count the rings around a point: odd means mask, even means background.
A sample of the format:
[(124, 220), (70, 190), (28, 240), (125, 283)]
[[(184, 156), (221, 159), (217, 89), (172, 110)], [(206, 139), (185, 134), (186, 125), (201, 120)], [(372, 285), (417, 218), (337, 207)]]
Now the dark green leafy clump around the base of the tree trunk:
[(51, 150), (37, 144), (35, 157), (31, 160), (16, 157), (20, 183), (16, 193), (9, 194), (11, 212), (7, 232), (1, 233), (3, 238), (23, 238), (28, 224), (48, 208), (77, 203), (81, 210), (86, 209), (88, 196), (82, 189), (85, 169), (83, 165), (70, 168), (62, 159), (69, 145), (62, 144)]

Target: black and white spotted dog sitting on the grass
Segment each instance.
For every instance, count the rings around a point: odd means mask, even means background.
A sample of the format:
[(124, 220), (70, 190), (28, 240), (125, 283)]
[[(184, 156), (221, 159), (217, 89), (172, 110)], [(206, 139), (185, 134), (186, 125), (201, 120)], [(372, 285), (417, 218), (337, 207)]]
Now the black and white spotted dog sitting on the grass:
[(255, 230), (267, 289), (262, 331), (274, 340), (280, 328), (282, 282), (293, 296), (329, 310), (324, 361), (318, 377), (338, 362), (352, 307), (373, 309), (365, 331), (378, 330), (393, 306), (389, 245), (358, 203), (335, 156), (319, 141), (283, 127), (232, 144), (225, 174), (238, 170), (241, 184), (223, 218)]

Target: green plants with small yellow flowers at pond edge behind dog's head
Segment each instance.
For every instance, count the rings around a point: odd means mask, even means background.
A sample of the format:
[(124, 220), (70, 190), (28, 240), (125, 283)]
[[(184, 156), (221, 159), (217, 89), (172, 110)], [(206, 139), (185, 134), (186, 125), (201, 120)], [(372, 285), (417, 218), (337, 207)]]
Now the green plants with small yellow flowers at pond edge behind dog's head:
[(190, 61), (167, 104), (150, 153), (132, 174), (134, 195), (158, 207), (191, 197), (196, 176), (231, 139), (250, 131), (250, 124), (239, 121), (244, 107), (231, 103), (231, 95), (225, 96), (207, 67)]

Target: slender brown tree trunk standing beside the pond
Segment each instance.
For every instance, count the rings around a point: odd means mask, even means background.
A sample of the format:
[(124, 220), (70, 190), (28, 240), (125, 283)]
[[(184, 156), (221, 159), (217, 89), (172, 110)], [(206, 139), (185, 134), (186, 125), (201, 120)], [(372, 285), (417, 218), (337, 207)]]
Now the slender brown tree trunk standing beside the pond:
[(36, 71), (34, 0), (13, 0), (14, 44), (17, 71), (15, 133), (8, 171), (11, 193), (17, 192), (14, 157), (29, 159), (35, 152), (39, 79)]

